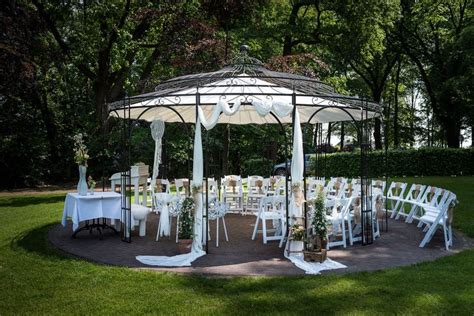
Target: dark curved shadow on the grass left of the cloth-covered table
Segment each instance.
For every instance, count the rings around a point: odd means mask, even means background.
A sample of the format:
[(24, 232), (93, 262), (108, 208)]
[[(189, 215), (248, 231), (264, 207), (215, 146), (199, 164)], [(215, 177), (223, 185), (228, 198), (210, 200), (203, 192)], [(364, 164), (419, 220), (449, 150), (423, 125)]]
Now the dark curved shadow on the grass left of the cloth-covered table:
[(21, 232), (12, 238), (10, 248), (13, 251), (18, 249), (35, 253), (52, 261), (70, 260), (74, 258), (72, 255), (55, 248), (48, 241), (48, 232), (57, 223), (46, 224), (31, 230)]

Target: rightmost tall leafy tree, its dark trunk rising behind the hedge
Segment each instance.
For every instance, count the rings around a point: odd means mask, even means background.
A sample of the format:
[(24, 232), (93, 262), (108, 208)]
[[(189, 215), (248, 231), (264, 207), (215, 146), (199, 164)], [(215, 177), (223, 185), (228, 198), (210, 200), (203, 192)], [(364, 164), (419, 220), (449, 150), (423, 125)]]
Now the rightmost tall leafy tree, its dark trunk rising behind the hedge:
[[(448, 146), (459, 147), (461, 127), (472, 107), (472, 99), (465, 93), (472, 91), (472, 80), (470, 83), (460, 80), (472, 78), (472, 63), (464, 62), (472, 61), (472, 32), (465, 33), (472, 23), (472, 3), (469, 0), (403, 0), (401, 3), (401, 46), (418, 68)], [(470, 44), (460, 43), (464, 41)]]

